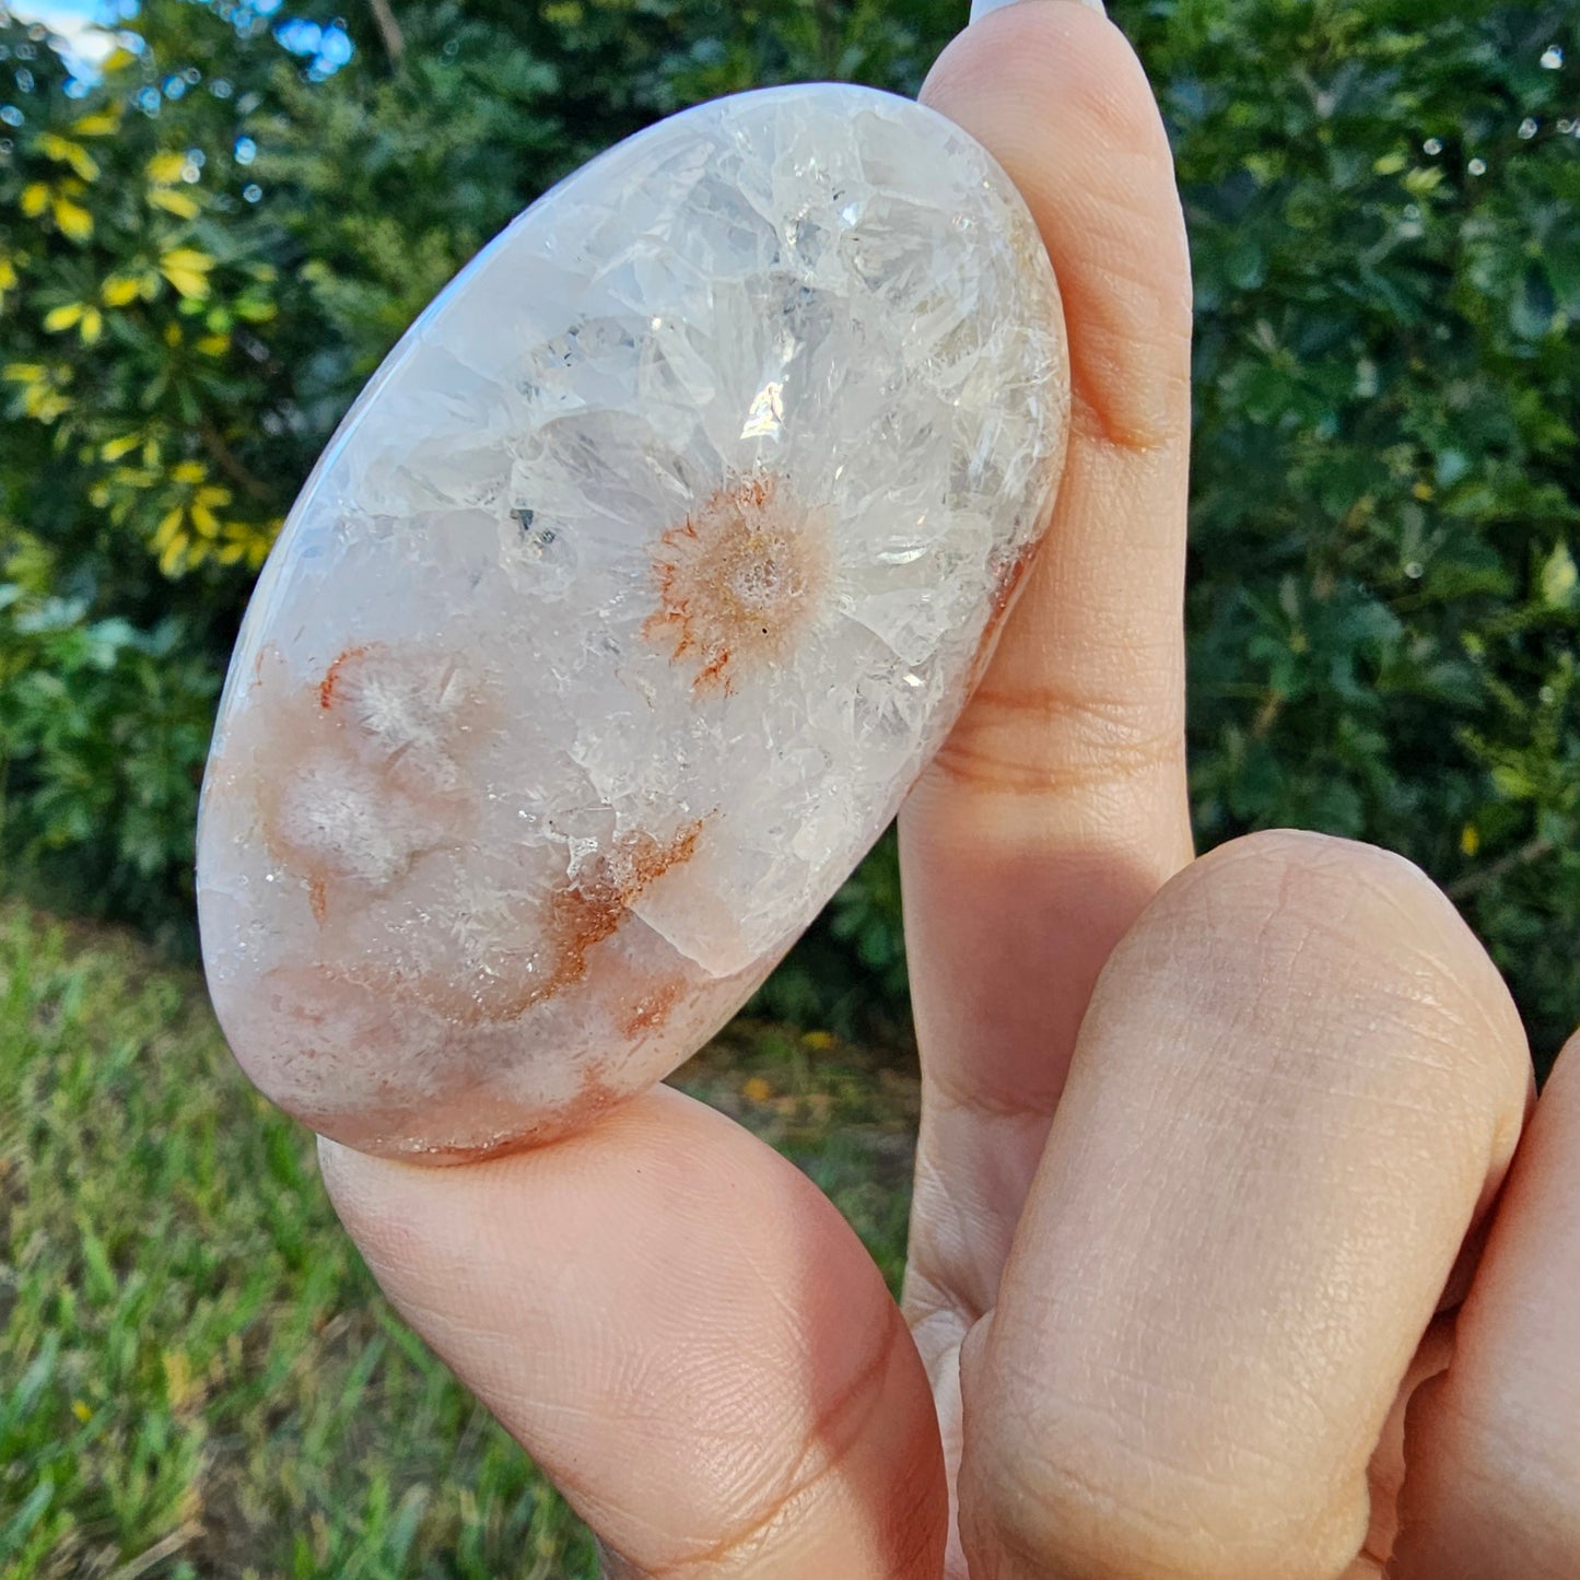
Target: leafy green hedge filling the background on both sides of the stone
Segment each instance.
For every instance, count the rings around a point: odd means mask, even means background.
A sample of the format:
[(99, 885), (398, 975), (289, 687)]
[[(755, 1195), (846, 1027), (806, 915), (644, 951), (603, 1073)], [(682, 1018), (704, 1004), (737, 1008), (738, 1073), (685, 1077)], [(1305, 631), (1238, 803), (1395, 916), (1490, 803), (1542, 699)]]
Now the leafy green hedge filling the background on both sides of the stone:
[[(1403, 850), (1465, 905), (1552, 1051), (1580, 1018), (1572, 6), (1115, 14), (1193, 237), (1202, 842), (1296, 823)], [(0, 22), (0, 529), (70, 567), (51, 589), (66, 627), (117, 637), (93, 673), (120, 676), (131, 736), (190, 727), (318, 447), (510, 213), (713, 93), (913, 92), (956, 22), (937, 0), (904, 19), (875, 0), (439, 0), (351, 22), (145, 0), (85, 96)], [(44, 607), (0, 610), (13, 684), (47, 662), (24, 629)], [(8, 702), (8, 732), (43, 695)], [(179, 910), (190, 738), (147, 769), (164, 788), (126, 833), (125, 796), (57, 773), (27, 728), (6, 744), (8, 847), (43, 842), (107, 902), (145, 913), (158, 888)], [(883, 845), (773, 994), (823, 1019), (897, 1008), (902, 959)]]

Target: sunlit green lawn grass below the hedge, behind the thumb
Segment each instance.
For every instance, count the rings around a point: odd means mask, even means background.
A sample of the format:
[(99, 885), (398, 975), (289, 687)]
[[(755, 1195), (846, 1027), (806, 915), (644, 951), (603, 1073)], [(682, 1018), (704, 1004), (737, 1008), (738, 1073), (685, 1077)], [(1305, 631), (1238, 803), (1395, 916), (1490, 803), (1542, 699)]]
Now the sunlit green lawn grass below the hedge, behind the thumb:
[[(738, 1022), (678, 1081), (806, 1168), (897, 1280), (913, 1079)], [(0, 907), (0, 1575), (594, 1574), (384, 1304), (199, 980)]]

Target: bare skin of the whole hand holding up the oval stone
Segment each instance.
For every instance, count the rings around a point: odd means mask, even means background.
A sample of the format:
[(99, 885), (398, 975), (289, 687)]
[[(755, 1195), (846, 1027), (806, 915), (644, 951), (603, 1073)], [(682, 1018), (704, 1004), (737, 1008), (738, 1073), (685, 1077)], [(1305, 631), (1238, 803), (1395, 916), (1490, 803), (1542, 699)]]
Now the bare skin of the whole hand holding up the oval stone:
[(340, 1215), (611, 1575), (1572, 1580), (1580, 1040), (1534, 1106), (1496, 970), (1397, 856), (1193, 860), (1190, 280), (1152, 95), (1101, 16), (1032, 0), (924, 98), (1038, 218), (1074, 428), (902, 817), (902, 1307), (796, 1169), (667, 1089), (453, 1169), (325, 1142)]

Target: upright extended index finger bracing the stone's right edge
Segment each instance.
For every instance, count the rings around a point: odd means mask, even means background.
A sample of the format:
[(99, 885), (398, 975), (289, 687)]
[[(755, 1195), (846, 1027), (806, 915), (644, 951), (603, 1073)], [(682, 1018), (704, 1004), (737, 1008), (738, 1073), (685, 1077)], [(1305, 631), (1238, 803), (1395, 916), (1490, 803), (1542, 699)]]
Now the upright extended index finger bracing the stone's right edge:
[(924, 1078), (907, 1297), (931, 1354), (992, 1304), (1097, 973), (1191, 853), (1191, 299), (1157, 104), (1101, 16), (1054, 0), (984, 16), (923, 98), (1025, 196), (1059, 275), (1073, 382), (1048, 539), (901, 815)]

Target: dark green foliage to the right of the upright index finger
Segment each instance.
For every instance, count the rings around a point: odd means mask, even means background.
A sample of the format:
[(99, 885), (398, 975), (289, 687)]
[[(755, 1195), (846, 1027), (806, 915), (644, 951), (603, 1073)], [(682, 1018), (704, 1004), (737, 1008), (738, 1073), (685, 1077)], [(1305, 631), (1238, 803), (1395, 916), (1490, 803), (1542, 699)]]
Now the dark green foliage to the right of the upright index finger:
[(1580, 1019), (1574, 9), (1242, 16), (1180, 6), (1147, 47), (1198, 302), (1196, 826), (1409, 855), (1552, 1051)]

